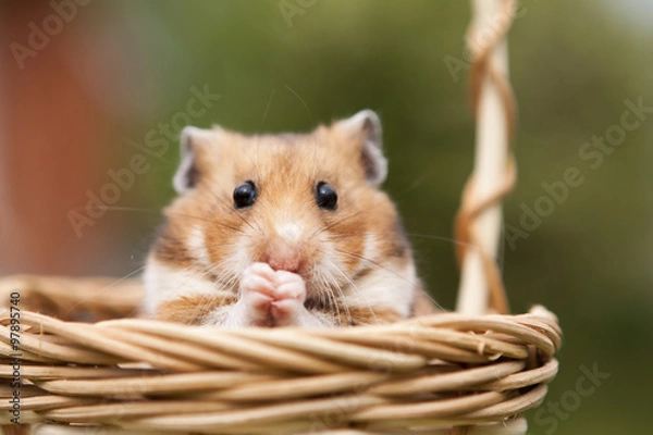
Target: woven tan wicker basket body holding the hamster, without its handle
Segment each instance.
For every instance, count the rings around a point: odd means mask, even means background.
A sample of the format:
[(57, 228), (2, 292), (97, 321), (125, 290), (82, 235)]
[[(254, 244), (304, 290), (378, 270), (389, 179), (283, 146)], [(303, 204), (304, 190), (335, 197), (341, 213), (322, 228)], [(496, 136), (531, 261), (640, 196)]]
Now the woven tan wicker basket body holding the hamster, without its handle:
[[(134, 314), (137, 282), (0, 281), (3, 307), (19, 295), (20, 422), (34, 434), (523, 433), (514, 418), (542, 401), (560, 345), (541, 307), (389, 326), (224, 330), (107, 320)], [(10, 433), (15, 351), (10, 311), (1, 319), (0, 424)]]

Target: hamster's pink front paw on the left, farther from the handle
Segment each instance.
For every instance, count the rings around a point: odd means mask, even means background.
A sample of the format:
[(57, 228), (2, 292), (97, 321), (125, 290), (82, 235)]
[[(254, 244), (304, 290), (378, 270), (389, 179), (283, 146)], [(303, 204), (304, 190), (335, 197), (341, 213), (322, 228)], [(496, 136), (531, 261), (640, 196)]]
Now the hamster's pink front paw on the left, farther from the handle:
[(274, 301), (276, 272), (266, 263), (254, 263), (243, 272), (238, 310), (245, 325), (267, 326)]

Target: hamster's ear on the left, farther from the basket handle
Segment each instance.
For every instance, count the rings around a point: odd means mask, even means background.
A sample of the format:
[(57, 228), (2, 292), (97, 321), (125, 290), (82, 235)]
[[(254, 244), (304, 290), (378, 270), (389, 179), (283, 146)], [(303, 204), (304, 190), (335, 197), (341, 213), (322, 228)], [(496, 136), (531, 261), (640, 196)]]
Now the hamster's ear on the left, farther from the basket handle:
[(202, 169), (206, 167), (209, 147), (212, 142), (219, 141), (222, 132), (220, 127), (213, 129), (184, 127), (180, 146), (182, 163), (172, 181), (177, 194), (183, 195), (197, 186)]

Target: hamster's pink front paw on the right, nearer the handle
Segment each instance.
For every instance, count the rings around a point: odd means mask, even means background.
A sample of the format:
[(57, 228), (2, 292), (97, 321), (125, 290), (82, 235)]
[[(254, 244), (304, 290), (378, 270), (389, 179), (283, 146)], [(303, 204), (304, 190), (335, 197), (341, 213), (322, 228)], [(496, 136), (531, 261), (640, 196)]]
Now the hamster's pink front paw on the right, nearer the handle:
[(300, 325), (307, 314), (306, 283), (301, 276), (286, 271), (276, 271), (276, 290), (270, 304), (270, 313), (275, 326)]

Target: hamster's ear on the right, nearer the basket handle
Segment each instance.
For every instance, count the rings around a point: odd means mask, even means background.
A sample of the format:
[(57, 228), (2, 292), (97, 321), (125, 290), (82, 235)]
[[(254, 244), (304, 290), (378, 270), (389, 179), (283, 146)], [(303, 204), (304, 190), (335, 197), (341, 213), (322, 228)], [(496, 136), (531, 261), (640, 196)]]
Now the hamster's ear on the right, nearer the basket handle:
[(366, 109), (354, 116), (338, 121), (335, 128), (352, 138), (361, 140), (360, 161), (369, 184), (379, 186), (387, 176), (387, 160), (382, 151), (382, 128), (379, 115)]

